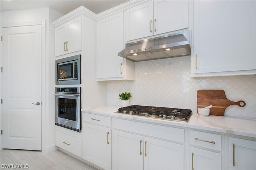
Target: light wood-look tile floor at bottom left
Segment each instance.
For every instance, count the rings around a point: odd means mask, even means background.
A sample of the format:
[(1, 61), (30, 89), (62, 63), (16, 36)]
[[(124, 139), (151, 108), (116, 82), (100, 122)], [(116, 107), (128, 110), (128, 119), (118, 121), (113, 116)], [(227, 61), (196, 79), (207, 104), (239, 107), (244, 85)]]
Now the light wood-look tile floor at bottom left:
[(46, 154), (33, 150), (3, 149), (0, 151), (0, 164), (1, 169), (2, 164), (28, 164), (29, 170), (97, 170), (61, 150)]

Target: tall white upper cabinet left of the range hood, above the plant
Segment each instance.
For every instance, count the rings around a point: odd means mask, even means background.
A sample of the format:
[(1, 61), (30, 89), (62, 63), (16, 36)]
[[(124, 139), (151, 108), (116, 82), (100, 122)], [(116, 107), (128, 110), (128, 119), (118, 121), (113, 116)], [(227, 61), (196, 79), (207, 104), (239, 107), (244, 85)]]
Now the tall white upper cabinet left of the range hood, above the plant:
[(97, 80), (134, 80), (134, 63), (117, 55), (124, 49), (124, 13), (97, 22)]

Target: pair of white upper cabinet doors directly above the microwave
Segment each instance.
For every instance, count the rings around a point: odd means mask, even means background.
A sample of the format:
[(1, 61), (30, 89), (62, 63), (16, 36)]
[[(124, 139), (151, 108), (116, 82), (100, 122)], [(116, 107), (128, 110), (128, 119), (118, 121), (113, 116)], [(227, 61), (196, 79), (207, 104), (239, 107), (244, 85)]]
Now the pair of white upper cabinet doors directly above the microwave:
[(55, 55), (64, 55), (82, 49), (82, 16), (55, 28)]

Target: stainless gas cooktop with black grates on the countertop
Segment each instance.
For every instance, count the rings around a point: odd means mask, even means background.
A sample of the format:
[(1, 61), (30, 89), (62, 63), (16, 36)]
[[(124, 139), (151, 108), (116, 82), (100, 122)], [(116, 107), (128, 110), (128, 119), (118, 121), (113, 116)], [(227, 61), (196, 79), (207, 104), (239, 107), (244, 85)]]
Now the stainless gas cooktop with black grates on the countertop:
[(153, 119), (162, 119), (168, 121), (188, 122), (192, 111), (189, 109), (177, 109), (168, 107), (139, 106), (131, 105), (118, 109), (120, 114), (142, 116)]

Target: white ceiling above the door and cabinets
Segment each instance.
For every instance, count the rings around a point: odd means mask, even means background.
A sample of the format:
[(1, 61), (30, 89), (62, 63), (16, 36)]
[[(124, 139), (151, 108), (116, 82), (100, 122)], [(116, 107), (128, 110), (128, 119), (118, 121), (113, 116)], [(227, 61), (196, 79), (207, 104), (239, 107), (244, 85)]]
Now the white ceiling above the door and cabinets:
[(98, 14), (128, 0), (1, 0), (0, 11), (25, 10), (49, 7), (62, 14), (84, 6)]

